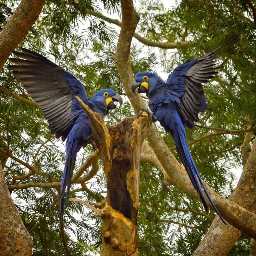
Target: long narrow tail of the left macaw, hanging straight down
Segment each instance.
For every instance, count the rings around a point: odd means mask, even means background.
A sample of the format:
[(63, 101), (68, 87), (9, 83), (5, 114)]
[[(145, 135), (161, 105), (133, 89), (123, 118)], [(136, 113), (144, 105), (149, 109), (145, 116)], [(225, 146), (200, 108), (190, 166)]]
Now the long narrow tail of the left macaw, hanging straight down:
[(63, 171), (62, 176), (62, 183), (61, 183), (61, 191), (60, 191), (60, 217), (61, 221), (63, 221), (63, 208), (64, 208), (64, 196), (66, 191), (66, 203), (65, 206), (67, 206), (67, 200), (71, 185), (71, 179), (76, 163), (76, 154), (77, 154), (77, 141), (72, 140), (70, 143), (67, 142), (66, 144), (66, 163)]

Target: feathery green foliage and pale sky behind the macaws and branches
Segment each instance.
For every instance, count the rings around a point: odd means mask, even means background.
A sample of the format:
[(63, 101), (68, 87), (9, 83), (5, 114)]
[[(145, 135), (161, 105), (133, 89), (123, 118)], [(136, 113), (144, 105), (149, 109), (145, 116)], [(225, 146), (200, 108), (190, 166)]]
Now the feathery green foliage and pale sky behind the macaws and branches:
[[(19, 1), (4, 0), (0, 4), (0, 30), (5, 26)], [(218, 129), (246, 129), (255, 125), (256, 113), (256, 34), (252, 11), (246, 2), (180, 1), (166, 10), (159, 1), (140, 1), (140, 23), (136, 32), (154, 41), (181, 42), (188, 46), (177, 50), (156, 50), (133, 43), (131, 64), (134, 73), (143, 70), (170, 73), (178, 64), (203, 55), (222, 45), (220, 73), (207, 84), (205, 92), (209, 109), (200, 115), (199, 126), (187, 130), (192, 142)], [(102, 10), (101, 10), (102, 9)], [(103, 88), (125, 94), (113, 61), (118, 33), (108, 22), (88, 15), (102, 12), (111, 17), (120, 14), (118, 0), (46, 1), (42, 14), (20, 46), (35, 50), (72, 72), (85, 85), (88, 97)], [(239, 15), (241, 14), (241, 15)], [(1, 27), (2, 26), (2, 27)], [(7, 61), (8, 64), (8, 61)], [(0, 87), (31, 100), (14, 76), (4, 67)], [(107, 126), (133, 115), (126, 102), (106, 118)], [(61, 180), (65, 147), (50, 133), (41, 110), (21, 102), (9, 93), (0, 95), (0, 148), (10, 150), (16, 158), (43, 171), (16, 184), (50, 183)], [(174, 143), (159, 126), (168, 147)], [(255, 136), (255, 132), (253, 134)], [(234, 189), (238, 178), (233, 169), (241, 167), (239, 146), (244, 133), (211, 136), (190, 146), (202, 178), (225, 197)], [(48, 140), (48, 141), (47, 141)], [(44, 142), (46, 142), (44, 144)], [(41, 150), (38, 151), (41, 146)], [(38, 153), (36, 153), (38, 151)], [(92, 147), (81, 150), (75, 171), (85, 162)], [(177, 157), (177, 152), (173, 150)], [(35, 157), (36, 156), (36, 157)], [(16, 160), (0, 153), (6, 182), (14, 184), (13, 176), (30, 170)], [(72, 185), (70, 198), (100, 202), (106, 191), (103, 166), (86, 183)], [(87, 171), (89, 172), (89, 170)], [(140, 210), (138, 218), (140, 255), (192, 255), (207, 232), (215, 214), (204, 212), (202, 204), (177, 186), (165, 186), (160, 170), (141, 164)], [(33, 255), (65, 255), (60, 238), (58, 192), (54, 188), (30, 187), (12, 191), (18, 211), (33, 237)], [(69, 201), (65, 209), (65, 230), (72, 255), (98, 255), (101, 245), (101, 219), (81, 204)], [(250, 239), (241, 236), (230, 255), (248, 255)]]

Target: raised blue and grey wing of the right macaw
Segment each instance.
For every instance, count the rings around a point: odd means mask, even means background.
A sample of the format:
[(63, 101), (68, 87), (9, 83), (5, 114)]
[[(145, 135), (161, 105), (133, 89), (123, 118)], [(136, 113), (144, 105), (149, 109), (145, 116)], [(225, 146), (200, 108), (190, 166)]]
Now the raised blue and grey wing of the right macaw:
[(199, 120), (198, 113), (208, 108), (202, 83), (207, 83), (218, 73), (215, 58), (219, 51), (220, 48), (217, 48), (212, 53), (176, 67), (166, 80), (171, 92), (180, 98), (178, 110), (184, 125), (189, 128), (194, 128), (194, 121)]

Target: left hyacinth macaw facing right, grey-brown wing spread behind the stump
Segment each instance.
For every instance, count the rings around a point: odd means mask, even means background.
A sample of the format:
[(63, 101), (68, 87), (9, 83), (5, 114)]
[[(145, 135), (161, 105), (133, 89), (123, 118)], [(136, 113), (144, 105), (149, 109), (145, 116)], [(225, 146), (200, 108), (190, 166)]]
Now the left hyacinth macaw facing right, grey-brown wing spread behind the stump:
[(106, 116), (110, 109), (116, 108), (115, 101), (121, 106), (123, 100), (112, 89), (100, 90), (88, 99), (82, 83), (72, 74), (38, 53), (21, 49), (22, 53), (13, 52), (21, 59), (9, 58), (18, 65), (8, 68), (41, 107), (51, 133), (55, 134), (56, 138), (61, 137), (63, 141), (67, 139), (66, 163), (60, 192), (60, 216), (63, 220), (63, 200), (66, 191), (67, 204), (77, 152), (92, 141), (88, 116), (74, 95), (79, 96), (85, 104), (102, 116)]

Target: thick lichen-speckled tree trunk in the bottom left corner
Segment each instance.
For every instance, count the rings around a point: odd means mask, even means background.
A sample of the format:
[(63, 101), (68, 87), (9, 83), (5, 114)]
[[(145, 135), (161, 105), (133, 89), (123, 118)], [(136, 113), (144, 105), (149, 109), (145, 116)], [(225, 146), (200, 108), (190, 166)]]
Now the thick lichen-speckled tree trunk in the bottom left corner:
[(0, 255), (31, 255), (33, 242), (12, 201), (1, 162), (0, 191)]

